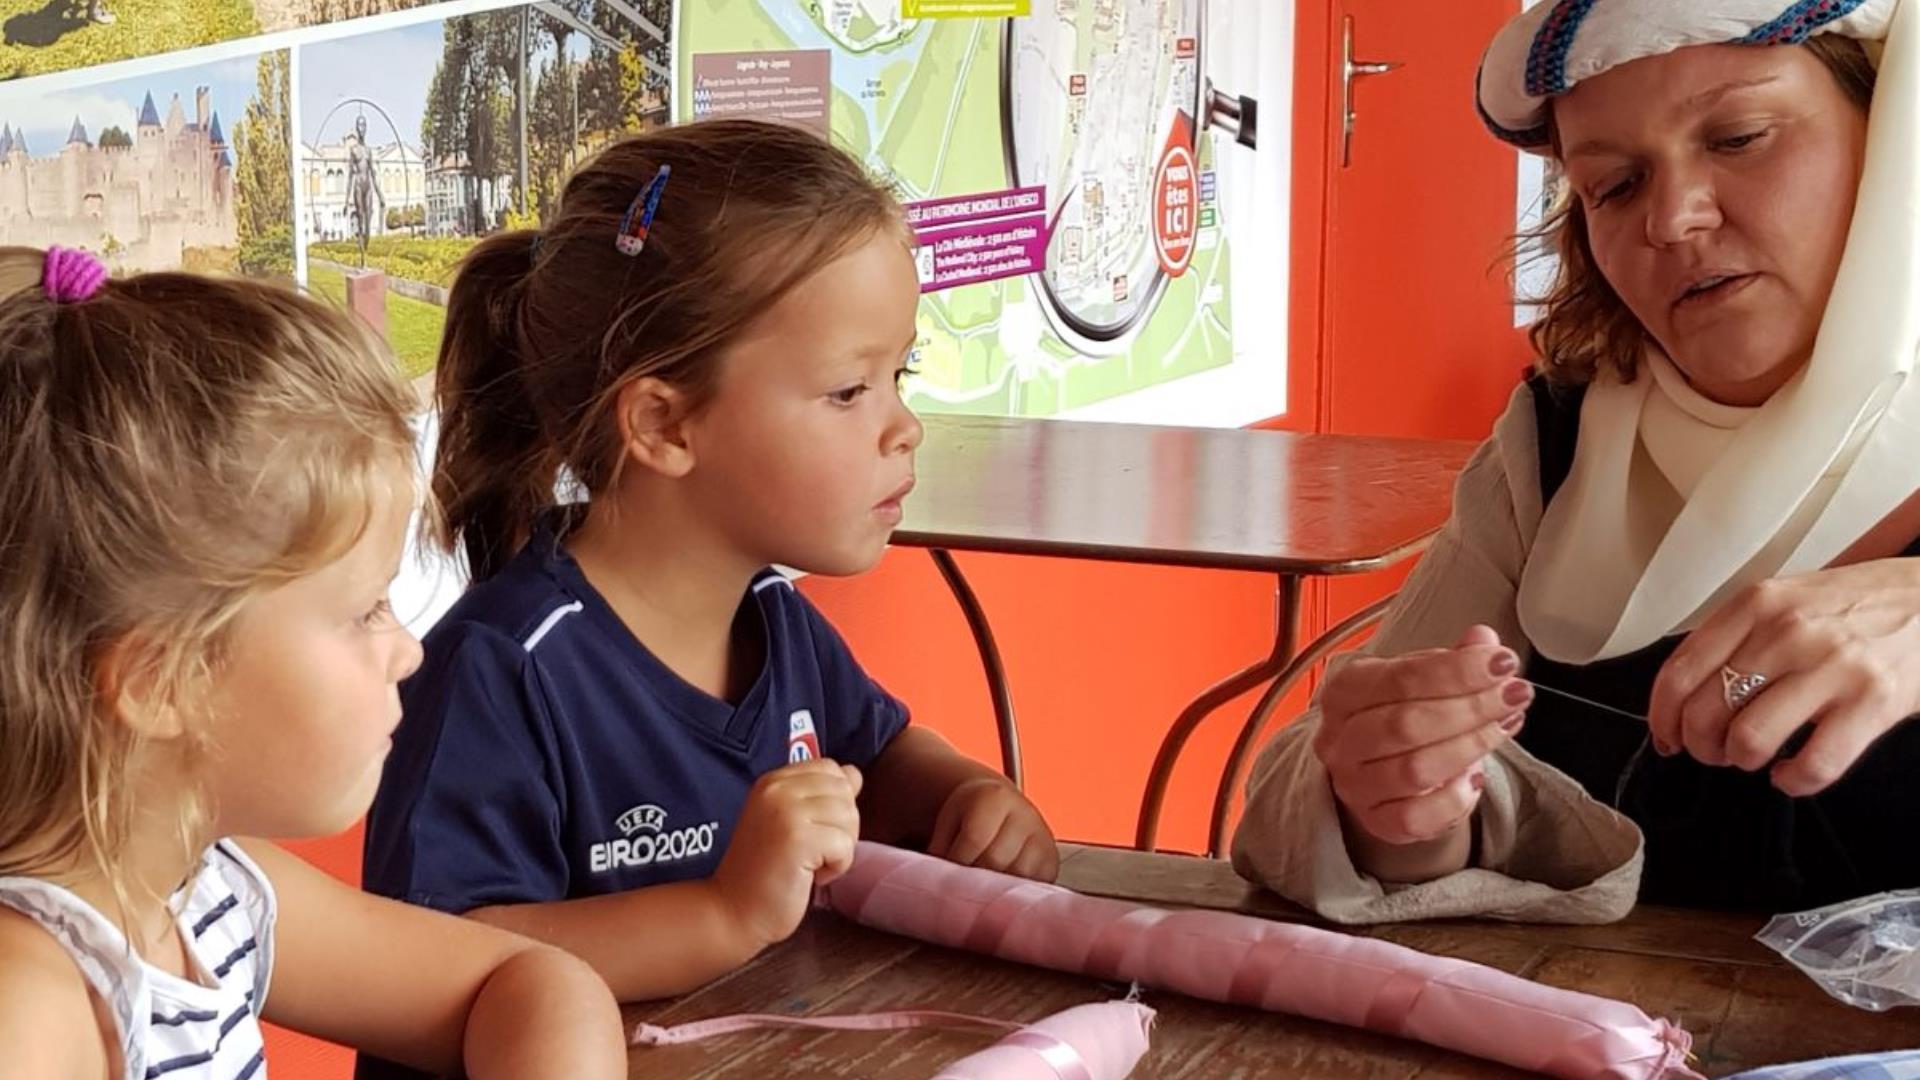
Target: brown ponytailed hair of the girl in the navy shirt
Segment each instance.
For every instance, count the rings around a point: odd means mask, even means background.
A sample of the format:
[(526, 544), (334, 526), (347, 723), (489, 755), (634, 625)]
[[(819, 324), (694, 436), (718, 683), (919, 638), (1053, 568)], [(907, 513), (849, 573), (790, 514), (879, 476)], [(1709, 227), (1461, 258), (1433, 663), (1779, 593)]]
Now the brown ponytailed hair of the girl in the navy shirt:
[[(614, 248), (655, 179), (645, 250)], [(612, 405), (653, 377), (699, 407), (726, 348), (820, 267), (876, 234), (908, 240), (856, 160), (783, 123), (716, 119), (614, 142), (582, 165), (541, 231), (482, 240), (447, 298), (436, 404), (436, 540), (472, 580), (513, 557), (564, 479), (620, 469)]]

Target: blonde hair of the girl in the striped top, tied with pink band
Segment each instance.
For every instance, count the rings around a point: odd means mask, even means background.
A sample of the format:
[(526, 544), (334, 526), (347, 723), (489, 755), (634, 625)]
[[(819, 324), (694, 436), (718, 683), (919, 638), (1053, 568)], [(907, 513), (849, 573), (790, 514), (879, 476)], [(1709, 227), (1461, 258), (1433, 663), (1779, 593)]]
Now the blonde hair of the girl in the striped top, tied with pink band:
[[(121, 690), (192, 717), (242, 605), (407, 490), (413, 398), (284, 288), (146, 273), (54, 302), (42, 265), (0, 248), (0, 874), (90, 863), (119, 890)], [(182, 840), (204, 811), (182, 792)]]

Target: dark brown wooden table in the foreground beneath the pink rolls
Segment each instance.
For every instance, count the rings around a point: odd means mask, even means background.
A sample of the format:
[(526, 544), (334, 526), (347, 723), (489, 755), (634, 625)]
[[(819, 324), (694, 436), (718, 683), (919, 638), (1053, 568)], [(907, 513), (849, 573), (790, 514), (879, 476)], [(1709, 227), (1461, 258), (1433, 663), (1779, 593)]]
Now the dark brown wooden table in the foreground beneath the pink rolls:
[[(1300, 909), (1254, 890), (1227, 863), (1190, 855), (1068, 846), (1060, 880), (1075, 890), (1169, 907), (1248, 911), (1302, 919)], [(1759, 917), (1642, 909), (1615, 926), (1428, 922), (1373, 936), (1461, 957), (1551, 986), (1632, 1001), (1693, 1032), (1697, 1067), (1726, 1076), (1761, 1065), (1920, 1043), (1920, 1020), (1862, 1013), (1753, 942)], [(626, 1009), (639, 1020), (680, 1024), (728, 1013), (828, 1015), (943, 1009), (1035, 1020), (1121, 994), (1089, 978), (922, 945), (814, 915), (789, 942), (739, 972), (676, 1001)], [(1160, 1011), (1137, 1080), (1302, 1076), (1509, 1078), (1515, 1068), (1371, 1032), (1146, 994)], [(636, 1047), (632, 1080), (745, 1076), (753, 1080), (856, 1076), (925, 1080), (941, 1065), (995, 1042), (985, 1030), (747, 1032), (701, 1043)]]

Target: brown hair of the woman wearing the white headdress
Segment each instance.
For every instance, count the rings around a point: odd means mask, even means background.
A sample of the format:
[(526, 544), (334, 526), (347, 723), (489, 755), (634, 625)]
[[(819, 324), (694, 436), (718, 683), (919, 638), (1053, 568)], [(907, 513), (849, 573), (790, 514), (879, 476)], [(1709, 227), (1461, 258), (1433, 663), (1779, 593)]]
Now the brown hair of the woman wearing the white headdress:
[[(1853, 104), (1862, 111), (1872, 104), (1876, 71), (1859, 40), (1820, 35), (1807, 38), (1803, 48), (1834, 73)], [(1555, 133), (1555, 150), (1557, 140)], [(1645, 329), (1594, 263), (1586, 211), (1569, 184), (1559, 184), (1540, 227), (1517, 238), (1515, 252), (1528, 250), (1534, 252), (1532, 258), (1551, 254), (1557, 259), (1553, 284), (1534, 300), (1544, 313), (1528, 329), (1540, 373), (1555, 382), (1588, 382), (1601, 369), (1611, 369), (1632, 382)]]

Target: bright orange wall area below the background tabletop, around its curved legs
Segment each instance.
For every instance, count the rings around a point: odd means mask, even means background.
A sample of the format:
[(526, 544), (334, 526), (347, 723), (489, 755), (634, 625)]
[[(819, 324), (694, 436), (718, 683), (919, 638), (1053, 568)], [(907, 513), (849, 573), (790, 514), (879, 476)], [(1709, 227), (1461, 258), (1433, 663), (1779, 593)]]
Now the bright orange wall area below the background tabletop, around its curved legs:
[[(1271, 578), (1014, 555), (958, 559), (1000, 642), (1029, 792), (1060, 836), (1131, 844), (1160, 734), (1202, 688), (1265, 655)], [(801, 588), (918, 723), (998, 763), (973, 638), (925, 552), (895, 548), (870, 575), (814, 577)], [(1225, 759), (1227, 724), (1202, 728), (1208, 734), (1188, 755)], [(1210, 805), (1213, 776), (1183, 769), (1173, 805)], [(1202, 847), (1204, 813), (1169, 817), (1162, 838)]]

